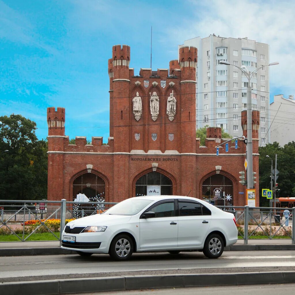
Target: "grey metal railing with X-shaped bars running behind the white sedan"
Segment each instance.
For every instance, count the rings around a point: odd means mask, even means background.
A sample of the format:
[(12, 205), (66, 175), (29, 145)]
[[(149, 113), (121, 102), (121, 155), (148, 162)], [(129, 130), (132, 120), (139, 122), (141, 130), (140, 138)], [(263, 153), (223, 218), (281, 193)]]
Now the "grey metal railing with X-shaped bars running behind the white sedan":
[[(44, 203), (42, 210), (32, 205)], [(70, 202), (61, 201), (0, 201), (0, 242), (2, 235), (15, 235), (19, 241), (28, 241), (33, 234), (51, 233), (53, 239), (60, 240), (57, 232), (62, 232), (68, 219), (77, 219), (99, 214), (112, 207), (115, 202)], [(287, 238), (295, 244), (295, 207), (289, 208), (289, 219), (283, 217), (286, 208), (217, 206), (219, 209), (234, 214), (238, 235), (248, 244), (249, 238), (277, 239)], [(60, 223), (51, 225), (51, 219)], [(54, 223), (54, 221), (53, 221)], [(31, 225), (32, 226), (31, 226)], [(33, 225), (35, 224), (35, 225)], [(60, 240), (61, 241), (61, 240)]]

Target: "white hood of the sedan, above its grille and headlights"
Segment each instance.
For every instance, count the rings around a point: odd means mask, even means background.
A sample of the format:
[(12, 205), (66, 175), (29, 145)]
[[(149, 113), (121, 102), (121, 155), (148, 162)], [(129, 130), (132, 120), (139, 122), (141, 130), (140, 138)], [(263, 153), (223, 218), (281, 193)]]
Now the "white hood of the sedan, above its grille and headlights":
[(108, 226), (117, 223), (124, 224), (124, 222), (129, 221), (130, 218), (131, 216), (124, 215), (95, 214), (70, 221), (67, 225), (70, 227), (94, 225)]

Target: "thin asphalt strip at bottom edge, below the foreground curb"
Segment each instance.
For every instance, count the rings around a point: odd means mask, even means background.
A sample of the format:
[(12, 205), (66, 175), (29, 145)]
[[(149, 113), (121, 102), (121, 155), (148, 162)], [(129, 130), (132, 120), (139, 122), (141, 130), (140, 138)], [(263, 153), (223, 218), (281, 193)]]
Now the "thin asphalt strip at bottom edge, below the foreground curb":
[[(99, 292), (83, 293), (83, 295), (286, 295), (294, 294), (295, 284), (276, 284), (276, 285), (249, 285), (249, 286), (218, 286), (218, 287), (197, 287), (197, 288), (169, 288), (151, 289), (137, 291), (118, 291), (118, 292)], [(82, 295), (82, 294), (81, 294)]]

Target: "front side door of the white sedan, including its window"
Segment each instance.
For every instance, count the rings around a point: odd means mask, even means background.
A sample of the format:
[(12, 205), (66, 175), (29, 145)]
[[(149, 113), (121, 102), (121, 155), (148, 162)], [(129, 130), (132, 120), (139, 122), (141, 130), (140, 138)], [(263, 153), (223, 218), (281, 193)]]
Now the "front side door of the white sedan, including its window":
[(174, 200), (160, 201), (147, 211), (156, 215), (140, 219), (140, 249), (177, 247), (178, 219)]

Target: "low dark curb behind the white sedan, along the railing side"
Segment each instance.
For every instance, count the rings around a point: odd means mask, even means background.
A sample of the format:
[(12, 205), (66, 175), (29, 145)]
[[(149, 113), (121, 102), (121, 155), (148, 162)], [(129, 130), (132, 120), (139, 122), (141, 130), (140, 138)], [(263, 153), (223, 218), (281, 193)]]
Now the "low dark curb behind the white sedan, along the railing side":
[[(295, 250), (295, 245), (232, 245), (225, 247), (224, 251), (290, 251)], [(3, 248), (0, 256), (34, 256), (34, 255), (61, 255), (76, 254), (75, 250), (65, 250), (60, 247), (48, 248)]]

